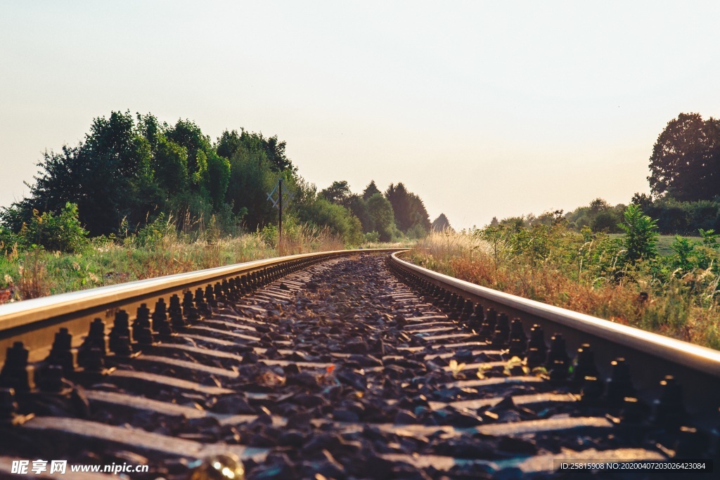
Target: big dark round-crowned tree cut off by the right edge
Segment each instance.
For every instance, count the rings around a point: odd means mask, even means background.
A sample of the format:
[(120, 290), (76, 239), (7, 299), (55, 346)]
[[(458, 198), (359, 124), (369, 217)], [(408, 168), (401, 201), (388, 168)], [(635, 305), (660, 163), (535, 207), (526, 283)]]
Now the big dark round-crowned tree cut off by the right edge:
[(720, 120), (681, 113), (667, 123), (652, 148), (652, 193), (678, 200), (712, 199), (720, 194)]

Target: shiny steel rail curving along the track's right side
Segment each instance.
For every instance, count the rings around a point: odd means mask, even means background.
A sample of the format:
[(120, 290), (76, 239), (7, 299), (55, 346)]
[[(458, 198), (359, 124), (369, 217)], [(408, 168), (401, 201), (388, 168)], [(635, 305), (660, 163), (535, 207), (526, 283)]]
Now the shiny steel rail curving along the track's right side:
[(391, 255), (391, 261), (405, 271), (433, 284), (494, 308), (508, 317), (520, 318), (528, 331), (537, 323), (546, 335), (562, 333), (568, 348), (589, 343), (595, 352), (600, 373), (609, 375), (610, 362), (626, 358), (641, 397), (657, 399), (658, 386), (666, 375), (683, 385), (685, 404), (696, 415), (716, 415), (720, 407), (720, 351), (646, 332), (588, 314), (488, 289), (468, 281), (437, 273)]

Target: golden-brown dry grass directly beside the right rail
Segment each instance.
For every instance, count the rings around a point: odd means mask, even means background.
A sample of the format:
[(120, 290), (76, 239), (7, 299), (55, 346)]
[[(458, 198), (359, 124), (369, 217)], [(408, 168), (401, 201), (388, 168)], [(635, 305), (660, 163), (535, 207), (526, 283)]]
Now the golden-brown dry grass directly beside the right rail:
[[(570, 246), (582, 248), (578, 245), (583, 244)], [(580, 271), (553, 250), (537, 265), (506, 246), (495, 249), (478, 235), (436, 233), (421, 240), (410, 259), (491, 289), (720, 349), (717, 274), (696, 272), (661, 282), (641, 266), (615, 281), (598, 276), (598, 268), (587, 263)], [(647, 300), (641, 292), (649, 294)]]

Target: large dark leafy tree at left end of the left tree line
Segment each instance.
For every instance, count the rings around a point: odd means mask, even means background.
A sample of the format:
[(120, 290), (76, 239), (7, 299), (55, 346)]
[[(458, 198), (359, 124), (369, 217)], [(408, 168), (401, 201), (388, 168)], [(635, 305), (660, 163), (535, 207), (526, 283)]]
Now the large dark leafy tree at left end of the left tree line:
[[(30, 221), (32, 211), (60, 214), (68, 202), (78, 207), (79, 221), (91, 235), (117, 231), (123, 218), (146, 217), (158, 200), (153, 181), (152, 148), (135, 127), (130, 112), (93, 119), (84, 142), (46, 151), (30, 197), (4, 217)], [(14, 225), (14, 228), (19, 225)]]

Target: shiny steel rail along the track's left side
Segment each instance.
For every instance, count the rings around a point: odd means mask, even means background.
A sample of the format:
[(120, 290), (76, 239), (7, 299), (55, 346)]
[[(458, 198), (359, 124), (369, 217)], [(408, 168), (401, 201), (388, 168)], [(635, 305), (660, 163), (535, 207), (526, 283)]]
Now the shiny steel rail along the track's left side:
[(134, 313), (134, 309), (140, 304), (151, 304), (161, 297), (182, 294), (198, 286), (294, 261), (324, 260), (359, 253), (389, 253), (397, 250), (403, 249), (333, 250), (288, 255), (0, 305), (0, 363), (5, 359), (6, 349), (16, 341), (22, 341), (30, 350), (31, 361), (44, 356), (53, 343), (58, 327), (68, 328), (73, 334), (73, 344), (79, 343), (79, 336), (87, 332), (89, 321), (96, 317), (112, 320), (120, 308)]

